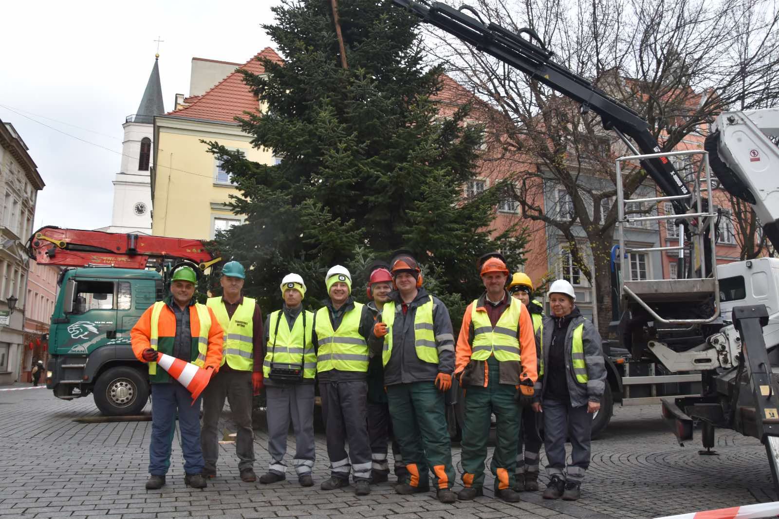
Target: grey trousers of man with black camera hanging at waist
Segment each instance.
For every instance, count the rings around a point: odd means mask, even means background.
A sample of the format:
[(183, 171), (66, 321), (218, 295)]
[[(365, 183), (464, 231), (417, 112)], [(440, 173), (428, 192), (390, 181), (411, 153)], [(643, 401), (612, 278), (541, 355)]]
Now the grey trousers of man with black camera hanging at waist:
[(314, 467), (314, 384), (284, 384), (265, 387), (268, 418), (270, 471), (286, 475), (287, 433), (294, 431), (292, 464), (298, 478)]

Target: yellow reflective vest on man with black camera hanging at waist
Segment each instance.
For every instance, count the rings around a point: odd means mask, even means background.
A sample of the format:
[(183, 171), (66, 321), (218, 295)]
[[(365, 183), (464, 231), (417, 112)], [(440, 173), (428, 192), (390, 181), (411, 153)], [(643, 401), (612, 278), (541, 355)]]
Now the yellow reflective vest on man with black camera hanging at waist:
[[(305, 312), (305, 341), (303, 330), (303, 312)], [(276, 326), (276, 320), (281, 320)], [(313, 312), (303, 310), (298, 313), (290, 330), (287, 317), (284, 312), (277, 310), (270, 314), (268, 327), (268, 345), (266, 347), (265, 361), (263, 362), (263, 376), (270, 376), (270, 364), (283, 369), (298, 369), (303, 362), (303, 377), (312, 379), (316, 375), (316, 351), (312, 342), (314, 321)], [(278, 334), (276, 330), (278, 329)], [(305, 344), (304, 344), (305, 343)], [(275, 344), (275, 346), (274, 346)]]

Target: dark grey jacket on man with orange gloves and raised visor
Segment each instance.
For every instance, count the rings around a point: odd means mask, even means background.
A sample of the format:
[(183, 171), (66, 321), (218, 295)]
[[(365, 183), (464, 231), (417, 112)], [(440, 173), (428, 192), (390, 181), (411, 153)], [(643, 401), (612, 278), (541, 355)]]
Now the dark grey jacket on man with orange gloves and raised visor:
[[(392, 355), (390, 361), (384, 366), (384, 385), (392, 386), (400, 383), (414, 383), (433, 381), (435, 376), (441, 373), (451, 374), (454, 371), (454, 334), (452, 320), (449, 318), (449, 309), (439, 298), (433, 298), (433, 334), (435, 345), (438, 349), (438, 365), (424, 362), (417, 357), (414, 348), (414, 317), (417, 308), (428, 301), (428, 291), (419, 288), (417, 297), (408, 304), (408, 311), (404, 315), (397, 291), (390, 293), (390, 298), (395, 302), (395, 321), (392, 327)], [(382, 319), (382, 313), (376, 317), (377, 322)], [(382, 355), (384, 337), (376, 338), (373, 334), (368, 338), (368, 346), (373, 355)]]

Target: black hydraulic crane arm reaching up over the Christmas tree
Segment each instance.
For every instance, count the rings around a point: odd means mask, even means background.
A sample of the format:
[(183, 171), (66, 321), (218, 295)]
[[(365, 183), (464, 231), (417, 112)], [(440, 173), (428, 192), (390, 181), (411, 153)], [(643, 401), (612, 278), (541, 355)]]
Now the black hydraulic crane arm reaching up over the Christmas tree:
[[(478, 51), (492, 55), (502, 62), (513, 66), (544, 83), (547, 87), (581, 104), (583, 110), (592, 110), (601, 116), (605, 129), (614, 129), (626, 145), (636, 154), (657, 154), (661, 152), (657, 139), (650, 132), (648, 123), (631, 108), (610, 97), (604, 91), (594, 87), (590, 81), (578, 76), (562, 65), (552, 62), (552, 53), (541, 43), (538, 35), (532, 29), (520, 30), (520, 34), (528, 34), (541, 46), (525, 40), (517, 34), (496, 23), (485, 24), (481, 19), (468, 16), (461, 11), (441, 2), (433, 2), (429, 7), (414, 0), (393, 0), (422, 20), (446, 30), (449, 34), (474, 45)], [(467, 6), (462, 10), (470, 10)], [(478, 16), (478, 15), (477, 15)], [(625, 136), (636, 143), (633, 147)], [(642, 167), (669, 196), (689, 195), (689, 188), (674, 169), (668, 158), (654, 158), (641, 161)], [(686, 213), (690, 207), (689, 199), (673, 201), (676, 214)]]

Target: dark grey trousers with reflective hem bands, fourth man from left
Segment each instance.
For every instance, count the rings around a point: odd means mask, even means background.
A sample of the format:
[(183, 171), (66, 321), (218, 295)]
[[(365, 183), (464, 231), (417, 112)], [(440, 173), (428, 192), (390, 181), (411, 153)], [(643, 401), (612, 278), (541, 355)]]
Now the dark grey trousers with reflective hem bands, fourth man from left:
[(319, 395), (322, 397), (330, 475), (348, 480), (351, 470), (354, 471), (354, 481), (370, 481), (371, 443), (365, 418), (368, 383), (365, 380), (320, 382)]

